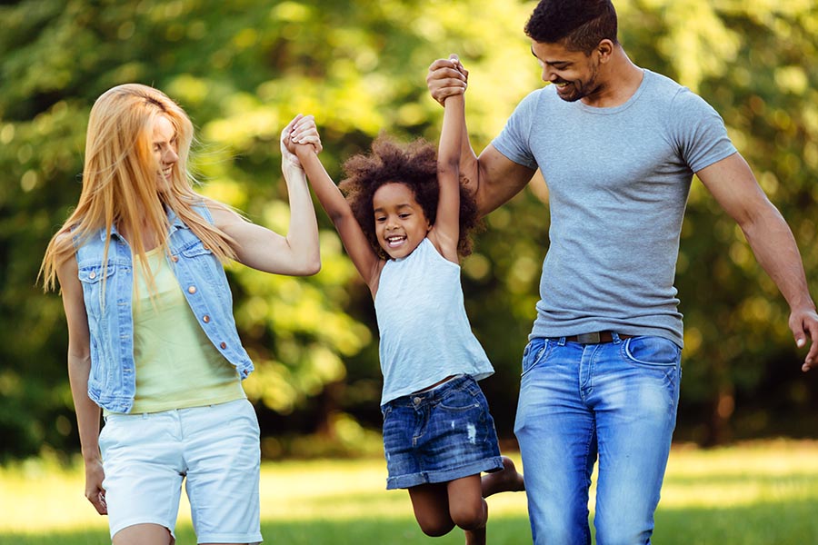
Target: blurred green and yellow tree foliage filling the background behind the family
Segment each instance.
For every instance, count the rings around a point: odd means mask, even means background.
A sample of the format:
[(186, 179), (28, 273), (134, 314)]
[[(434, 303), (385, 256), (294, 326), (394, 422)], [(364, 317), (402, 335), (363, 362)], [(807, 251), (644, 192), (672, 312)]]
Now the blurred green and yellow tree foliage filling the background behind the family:
[[(507, 0), (25, 0), (0, 5), (0, 436), (2, 456), (72, 450), (59, 297), (35, 286), (45, 244), (80, 192), (91, 104), (125, 82), (153, 84), (199, 129), (202, 191), (286, 229), (277, 135), (314, 114), (322, 158), (339, 165), (387, 131), (436, 141), (441, 108), (426, 68), (456, 52), (470, 70), (469, 130), (482, 150), (542, 84), (522, 32), (534, 3)], [(816, 292), (818, 7), (812, 0), (620, 0), (636, 64), (702, 94), (793, 227)], [(567, 130), (567, 129), (566, 129)], [(548, 246), (547, 189), (535, 179), (486, 219), (464, 262), (474, 330), (497, 373), (484, 381), (512, 435), (519, 357)], [(377, 430), (380, 372), (371, 298), (330, 223), (309, 279), (231, 267), (235, 312), (257, 372), (244, 385), (269, 436), (354, 442)], [(695, 441), (816, 429), (812, 376), (788, 310), (742, 234), (693, 185), (677, 287), (685, 314), (680, 433)], [(738, 411), (734, 412), (734, 407)], [(780, 422), (793, 423), (783, 429)], [(363, 425), (363, 429), (359, 426)], [(779, 427), (775, 427), (776, 424)], [(287, 441), (284, 441), (287, 442)], [(277, 455), (283, 441), (266, 441)], [(289, 441), (287, 444), (297, 441)]]

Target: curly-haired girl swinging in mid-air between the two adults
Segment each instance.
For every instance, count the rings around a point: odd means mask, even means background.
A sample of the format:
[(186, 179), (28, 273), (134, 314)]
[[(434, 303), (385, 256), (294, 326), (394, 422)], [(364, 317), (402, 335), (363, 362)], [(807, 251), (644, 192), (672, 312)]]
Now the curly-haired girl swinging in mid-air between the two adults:
[[(467, 543), (485, 542), (484, 496), (523, 490), (522, 475), (501, 458), (477, 381), (494, 372), (466, 317), (459, 255), (469, 252), (474, 202), (460, 183), (463, 95), (445, 104), (440, 157), (434, 146), (407, 149), (378, 138), (371, 156), (344, 164), (335, 186), (298, 132), (285, 141), (304, 165), (372, 292), (384, 373), (381, 409), (387, 489), (409, 490), (414, 515), (430, 536), (457, 525)], [(482, 480), (481, 471), (489, 471)]]

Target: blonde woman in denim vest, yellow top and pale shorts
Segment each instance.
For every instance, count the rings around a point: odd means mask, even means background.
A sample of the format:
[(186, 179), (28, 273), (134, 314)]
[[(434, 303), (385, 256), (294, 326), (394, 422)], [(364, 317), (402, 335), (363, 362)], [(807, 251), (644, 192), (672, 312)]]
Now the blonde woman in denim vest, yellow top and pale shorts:
[(85, 497), (108, 515), (115, 545), (174, 543), (185, 480), (199, 543), (262, 540), (258, 421), (241, 384), (253, 363), (222, 263), (320, 268), (291, 136), (321, 148), (312, 117), (284, 128), (282, 236), (193, 191), (193, 125), (165, 94), (119, 85), (91, 110), (80, 200), (41, 275), (46, 289), (59, 281), (65, 307)]

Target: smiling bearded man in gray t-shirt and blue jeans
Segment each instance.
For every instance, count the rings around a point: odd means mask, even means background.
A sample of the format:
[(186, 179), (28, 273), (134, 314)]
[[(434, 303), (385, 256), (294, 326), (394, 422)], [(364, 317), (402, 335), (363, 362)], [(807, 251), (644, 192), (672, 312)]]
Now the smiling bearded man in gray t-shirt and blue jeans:
[[(681, 380), (682, 315), (673, 287), (695, 173), (741, 226), (791, 308), (803, 371), (818, 366), (818, 314), (793, 234), (703, 99), (636, 66), (610, 0), (542, 0), (525, 33), (550, 83), (529, 94), (461, 172), (482, 213), (539, 168), (551, 244), (523, 357), (514, 431), (535, 543), (590, 543), (588, 489), (599, 461), (599, 543), (649, 543)], [(466, 76), (435, 61), (443, 101)], [(467, 149), (466, 149), (467, 148)]]

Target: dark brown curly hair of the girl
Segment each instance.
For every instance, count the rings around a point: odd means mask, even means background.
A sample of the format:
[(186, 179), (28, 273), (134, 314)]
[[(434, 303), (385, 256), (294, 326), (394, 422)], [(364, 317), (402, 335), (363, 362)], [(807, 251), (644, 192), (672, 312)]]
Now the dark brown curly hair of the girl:
[[(422, 138), (410, 144), (397, 144), (385, 134), (372, 143), (371, 154), (356, 154), (344, 162), (346, 178), (338, 184), (361, 225), (375, 253), (388, 259), (375, 234), (373, 195), (386, 183), (404, 183), (414, 193), (426, 219), (434, 225), (440, 186), (437, 183), (437, 149)], [(474, 195), (460, 180), (460, 240), (457, 253), (465, 257), (472, 253), (473, 233), (481, 223), (477, 217)]]

